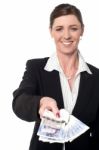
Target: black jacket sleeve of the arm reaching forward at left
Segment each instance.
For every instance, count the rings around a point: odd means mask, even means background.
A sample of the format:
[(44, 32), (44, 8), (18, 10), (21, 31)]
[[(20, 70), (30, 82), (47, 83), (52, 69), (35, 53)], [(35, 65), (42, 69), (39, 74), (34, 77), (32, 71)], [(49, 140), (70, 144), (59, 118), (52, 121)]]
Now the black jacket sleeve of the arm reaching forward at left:
[(29, 60), (19, 88), (13, 92), (12, 108), (14, 113), (25, 121), (39, 120), (39, 94), (35, 60)]

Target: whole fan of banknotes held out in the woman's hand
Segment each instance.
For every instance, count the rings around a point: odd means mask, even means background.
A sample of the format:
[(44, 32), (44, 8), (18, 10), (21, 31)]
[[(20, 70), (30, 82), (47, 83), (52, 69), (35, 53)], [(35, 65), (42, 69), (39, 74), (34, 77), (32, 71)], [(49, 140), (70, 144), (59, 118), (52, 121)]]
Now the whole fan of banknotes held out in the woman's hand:
[(37, 135), (43, 142), (65, 143), (73, 141), (88, 129), (86, 124), (70, 115), (65, 109), (60, 110), (60, 117), (45, 110)]

